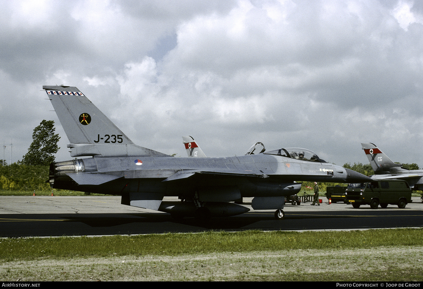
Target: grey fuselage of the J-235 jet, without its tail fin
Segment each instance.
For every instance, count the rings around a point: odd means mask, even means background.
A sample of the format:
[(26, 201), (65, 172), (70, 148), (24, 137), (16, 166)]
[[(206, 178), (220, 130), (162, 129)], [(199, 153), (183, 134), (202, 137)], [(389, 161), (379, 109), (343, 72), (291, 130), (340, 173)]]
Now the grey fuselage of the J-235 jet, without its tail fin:
[[(60, 169), (63, 163), (65, 169)], [(149, 192), (184, 196), (201, 188), (232, 187), (239, 189), (242, 197), (283, 196), (293, 194), (286, 187), (294, 181), (368, 181), (363, 175), (330, 163), (270, 154), (218, 158), (92, 157), (58, 162), (52, 166), (50, 184), (53, 188), (118, 195)], [(99, 185), (78, 184), (68, 176), (74, 173), (80, 178), (87, 174), (101, 174), (115, 179)], [(172, 178), (176, 173), (181, 177)]]

